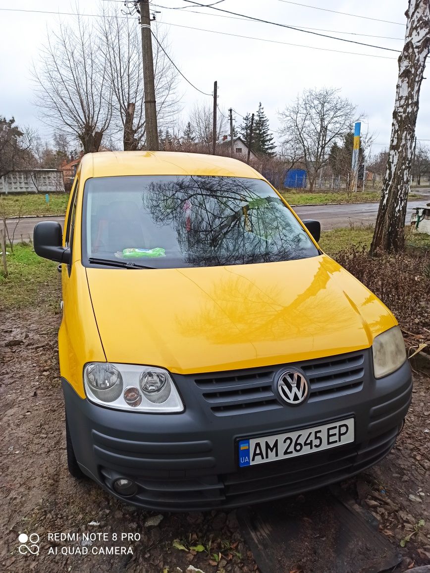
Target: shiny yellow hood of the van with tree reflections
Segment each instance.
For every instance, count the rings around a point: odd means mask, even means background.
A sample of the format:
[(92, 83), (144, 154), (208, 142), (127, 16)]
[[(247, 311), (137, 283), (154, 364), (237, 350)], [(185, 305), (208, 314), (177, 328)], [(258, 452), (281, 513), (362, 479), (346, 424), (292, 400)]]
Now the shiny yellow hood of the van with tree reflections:
[(397, 324), (330, 257), (206, 268), (87, 268), (109, 362), (178, 374), (361, 350)]

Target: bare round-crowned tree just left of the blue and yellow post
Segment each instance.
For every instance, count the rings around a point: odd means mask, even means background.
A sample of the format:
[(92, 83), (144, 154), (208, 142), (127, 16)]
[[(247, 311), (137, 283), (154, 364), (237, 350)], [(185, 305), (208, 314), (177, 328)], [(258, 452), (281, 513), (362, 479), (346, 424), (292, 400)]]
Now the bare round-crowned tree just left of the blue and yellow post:
[(339, 93), (336, 88), (305, 90), (278, 113), (279, 134), (301, 156), (311, 191), (319, 170), (329, 162), (333, 143), (344, 138), (356, 119), (356, 105)]

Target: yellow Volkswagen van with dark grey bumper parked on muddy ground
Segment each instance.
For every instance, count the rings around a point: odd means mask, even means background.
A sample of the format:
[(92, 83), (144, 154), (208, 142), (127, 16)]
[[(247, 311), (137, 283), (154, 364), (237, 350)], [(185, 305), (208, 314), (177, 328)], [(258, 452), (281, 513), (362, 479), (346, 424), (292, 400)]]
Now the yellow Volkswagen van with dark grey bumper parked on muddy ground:
[(395, 444), (411, 370), (392, 313), (235, 159), (82, 158), (61, 226), (70, 473), (143, 508), (304, 492)]

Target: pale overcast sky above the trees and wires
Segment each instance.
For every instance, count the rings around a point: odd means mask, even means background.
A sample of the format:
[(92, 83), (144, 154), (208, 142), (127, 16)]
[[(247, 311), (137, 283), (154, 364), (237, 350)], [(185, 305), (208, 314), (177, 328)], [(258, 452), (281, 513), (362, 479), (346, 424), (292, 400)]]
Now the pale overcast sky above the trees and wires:
[[(214, 1), (196, 0), (204, 4)], [(42, 123), (32, 103), (31, 65), (33, 61), (37, 65), (39, 50), (58, 22), (73, 21), (72, 16), (58, 12), (78, 9), (81, 14), (98, 14), (102, 2), (113, 2), (121, 9), (117, 0), (81, 0), (78, 4), (69, 0), (0, 0), (0, 115), (13, 115), (18, 124), (31, 125), (42, 138), (50, 138), (49, 126)], [(183, 9), (187, 5), (190, 7)], [(276, 135), (278, 112), (303, 89), (341, 88), (342, 96), (367, 116), (362, 129), (374, 134), (372, 152), (377, 152), (389, 143), (397, 52), (253, 22), (214, 8), (400, 52), (407, 5), (407, 0), (223, 0), (212, 8), (201, 8), (184, 0), (152, 0), (151, 6), (157, 11), (157, 25), (168, 30), (172, 60), (202, 92), (211, 93), (214, 80), (218, 81), (219, 107), (225, 111), (234, 108), (236, 123), (242, 121), (240, 115), (256, 111), (261, 101)], [(15, 11), (1, 10), (10, 7)], [(35, 9), (56, 14), (18, 11)], [(179, 92), (184, 120), (196, 101), (211, 100), (182, 78)], [(430, 75), (421, 87), (416, 134), (430, 145)]]

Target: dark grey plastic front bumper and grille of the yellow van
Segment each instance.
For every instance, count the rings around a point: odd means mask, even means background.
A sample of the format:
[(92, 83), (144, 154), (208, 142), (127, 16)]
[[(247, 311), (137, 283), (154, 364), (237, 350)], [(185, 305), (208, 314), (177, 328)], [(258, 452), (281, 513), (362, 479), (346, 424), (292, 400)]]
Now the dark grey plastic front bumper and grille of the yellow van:
[[(270, 379), (276, 380), (277, 372), (286, 365), (270, 372), (267, 368), (234, 375), (219, 372), (214, 378), (175, 374), (186, 405), (181, 414), (141, 414), (96, 406), (81, 399), (63, 379), (73, 449), (85, 474), (119, 499), (147, 509), (233, 508), (302, 493), (361, 472), (386, 456), (395, 444), (411, 403), (411, 369), (406, 362), (393, 374), (375, 380), (370, 359), (369, 351), (361, 352), (360, 367), (357, 353), (342, 355), (342, 363), (325, 359), (324, 378), (318, 374), (321, 360), (299, 364), (310, 377), (313, 391), (305, 404), (295, 407), (282, 405), (270, 386)], [(328, 376), (327, 364), (330, 372), (341, 366), (340, 374)], [(224, 376), (221, 385), (219, 376)], [(354, 444), (238, 467), (239, 438), (352, 416), (356, 421)], [(119, 496), (112, 487), (118, 477), (135, 481), (137, 493)]]

